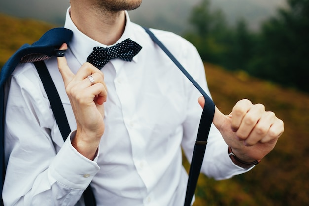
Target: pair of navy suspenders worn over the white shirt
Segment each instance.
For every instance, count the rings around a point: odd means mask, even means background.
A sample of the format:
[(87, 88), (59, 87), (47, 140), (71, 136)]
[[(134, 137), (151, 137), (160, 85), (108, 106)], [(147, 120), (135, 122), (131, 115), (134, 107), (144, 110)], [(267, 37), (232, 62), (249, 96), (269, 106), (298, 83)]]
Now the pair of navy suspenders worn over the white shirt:
[[(144, 28), (149, 34), (151, 39), (168, 55), (168, 57), (176, 64), (176, 66), (184, 73), (184, 75), (193, 83), (193, 85), (200, 91), (200, 93), (205, 98), (205, 106), (201, 115), (201, 120), (198, 128), (197, 138), (194, 145), (193, 157), (191, 161), (189, 179), (187, 184), (186, 198), (184, 206), (190, 206), (192, 197), (195, 192), (198, 176), (200, 173), (200, 168), (203, 162), (206, 144), (208, 139), (208, 134), (212, 119), (214, 116), (215, 105), (210, 97), (205, 91), (198, 85), (197, 82), (190, 76), (190, 74), (185, 70), (185, 68), (177, 61), (177, 59), (168, 51), (168, 49), (154, 36), (154, 34), (148, 29)], [(48, 69), (44, 61), (34, 62), (34, 65), (39, 73), (39, 76), (43, 82), (45, 91), (50, 101), (51, 108), (53, 110), (56, 122), (60, 129), (63, 140), (65, 141), (69, 133), (71, 132), (68, 120), (63, 109), (59, 94), (52, 81)], [(89, 185), (84, 191), (84, 200), (86, 206), (96, 206), (95, 197), (91, 186)]]

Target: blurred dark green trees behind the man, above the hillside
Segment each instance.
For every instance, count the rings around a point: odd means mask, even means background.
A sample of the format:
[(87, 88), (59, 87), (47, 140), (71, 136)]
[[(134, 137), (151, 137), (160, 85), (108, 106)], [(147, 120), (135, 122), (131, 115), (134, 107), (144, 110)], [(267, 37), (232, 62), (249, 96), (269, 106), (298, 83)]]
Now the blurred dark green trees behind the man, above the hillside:
[(309, 0), (288, 0), (288, 5), (266, 20), (260, 32), (251, 32), (244, 19), (228, 27), (224, 14), (202, 0), (189, 19), (195, 31), (184, 37), (204, 61), (309, 92)]

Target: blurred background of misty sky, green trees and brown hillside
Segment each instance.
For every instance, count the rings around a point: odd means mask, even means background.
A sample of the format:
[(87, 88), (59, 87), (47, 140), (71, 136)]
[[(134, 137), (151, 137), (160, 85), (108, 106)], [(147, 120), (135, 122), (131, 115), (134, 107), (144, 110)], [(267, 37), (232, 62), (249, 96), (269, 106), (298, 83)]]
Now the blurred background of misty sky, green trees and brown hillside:
[[(68, 6), (2, 0), (0, 68), (22, 44), (62, 26)], [(224, 181), (200, 175), (194, 206), (308, 206), (309, 0), (144, 0), (129, 13), (196, 46), (221, 111), (248, 98), (285, 122), (276, 148), (252, 171)]]

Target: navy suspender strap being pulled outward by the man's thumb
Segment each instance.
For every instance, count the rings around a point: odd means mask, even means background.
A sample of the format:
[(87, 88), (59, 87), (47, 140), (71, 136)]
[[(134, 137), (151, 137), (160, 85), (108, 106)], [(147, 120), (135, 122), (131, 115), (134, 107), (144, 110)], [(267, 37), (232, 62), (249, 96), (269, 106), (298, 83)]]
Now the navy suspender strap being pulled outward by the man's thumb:
[(207, 139), (209, 135), (210, 126), (215, 113), (215, 104), (211, 98), (206, 94), (206, 92), (198, 85), (198, 83), (191, 77), (191, 75), (186, 71), (186, 69), (177, 61), (177, 59), (169, 52), (169, 50), (159, 41), (155, 35), (148, 29), (145, 31), (151, 39), (167, 54), (167, 56), (176, 64), (176, 66), (184, 73), (184, 75), (193, 83), (193, 85), (199, 90), (199, 92), (205, 98), (205, 105), (201, 115), (201, 120), (198, 127), (198, 133), (196, 142), (194, 145), (193, 156), (191, 160), (189, 179), (187, 184), (186, 198), (184, 206), (190, 206), (192, 198), (195, 192), (198, 176), (200, 173), (201, 165), (203, 162)]

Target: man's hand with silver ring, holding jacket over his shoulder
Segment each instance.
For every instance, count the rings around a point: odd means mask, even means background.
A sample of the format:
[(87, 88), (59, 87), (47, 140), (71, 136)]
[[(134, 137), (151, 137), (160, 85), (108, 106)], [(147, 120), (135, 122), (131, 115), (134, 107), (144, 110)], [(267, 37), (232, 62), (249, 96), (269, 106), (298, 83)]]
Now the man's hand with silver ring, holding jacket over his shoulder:
[[(60, 50), (66, 50), (63, 44)], [(85, 63), (74, 75), (65, 57), (57, 57), (58, 68), (63, 78), (67, 95), (77, 123), (72, 145), (85, 157), (93, 160), (104, 133), (104, 106), (107, 88), (103, 73), (90, 63)], [(88, 76), (94, 79), (94, 84)]]

